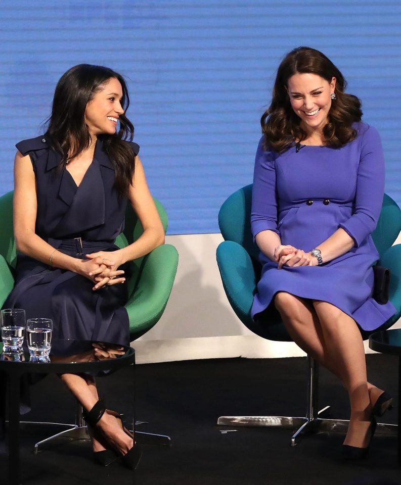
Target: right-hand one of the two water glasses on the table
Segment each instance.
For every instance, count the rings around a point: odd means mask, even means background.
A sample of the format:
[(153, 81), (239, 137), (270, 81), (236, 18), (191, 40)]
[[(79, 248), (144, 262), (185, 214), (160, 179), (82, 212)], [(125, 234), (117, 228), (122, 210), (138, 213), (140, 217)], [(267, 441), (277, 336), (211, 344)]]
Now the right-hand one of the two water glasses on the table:
[(26, 340), (29, 360), (50, 362), (53, 322), (50, 318), (28, 318), (26, 322)]

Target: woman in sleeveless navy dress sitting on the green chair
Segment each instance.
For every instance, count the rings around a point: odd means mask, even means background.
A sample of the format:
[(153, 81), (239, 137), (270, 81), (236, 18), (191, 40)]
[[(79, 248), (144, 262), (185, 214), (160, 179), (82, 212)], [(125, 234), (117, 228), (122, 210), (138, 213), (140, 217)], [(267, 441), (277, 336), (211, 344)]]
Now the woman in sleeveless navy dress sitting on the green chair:
[[(129, 345), (125, 278), (129, 261), (164, 243), (124, 112), (129, 104), (122, 76), (82, 64), (59, 80), (43, 136), (17, 143), (14, 168), (14, 232), (19, 251), (16, 284), (5, 306), (27, 317), (48, 317), (55, 338)], [(143, 234), (123, 249), (127, 201)], [(94, 358), (121, 348), (94, 349)], [(103, 465), (117, 456), (135, 467), (138, 446), (117, 413), (99, 401), (91, 376), (64, 374), (90, 424), (94, 457)]]

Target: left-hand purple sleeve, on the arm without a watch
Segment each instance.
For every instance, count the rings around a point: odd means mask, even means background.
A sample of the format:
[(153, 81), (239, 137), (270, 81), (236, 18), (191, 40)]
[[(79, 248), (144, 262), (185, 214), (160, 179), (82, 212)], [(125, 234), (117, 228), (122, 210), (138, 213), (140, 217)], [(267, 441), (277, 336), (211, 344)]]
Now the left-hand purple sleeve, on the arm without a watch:
[(253, 238), (261, 231), (277, 229), (277, 196), (275, 153), (263, 149), (264, 136), (260, 138), (253, 174), (251, 229)]

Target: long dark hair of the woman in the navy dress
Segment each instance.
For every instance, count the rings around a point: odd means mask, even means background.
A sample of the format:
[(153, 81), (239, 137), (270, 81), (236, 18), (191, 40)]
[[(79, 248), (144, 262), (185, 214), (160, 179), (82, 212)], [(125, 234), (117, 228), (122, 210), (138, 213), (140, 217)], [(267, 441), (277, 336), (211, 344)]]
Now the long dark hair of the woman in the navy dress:
[(99, 135), (99, 139), (115, 170), (114, 187), (126, 195), (135, 169), (133, 157), (136, 154), (124, 141), (132, 140), (133, 125), (125, 116), (129, 97), (126, 82), (120, 74), (108, 67), (91, 64), (79, 64), (63, 74), (54, 92), (52, 114), (46, 122), (46, 136), (51, 147), (63, 154), (61, 167), (87, 149), (91, 135), (85, 123), (86, 105), (111, 78), (118, 79), (121, 84), (124, 114), (119, 116), (118, 132)]

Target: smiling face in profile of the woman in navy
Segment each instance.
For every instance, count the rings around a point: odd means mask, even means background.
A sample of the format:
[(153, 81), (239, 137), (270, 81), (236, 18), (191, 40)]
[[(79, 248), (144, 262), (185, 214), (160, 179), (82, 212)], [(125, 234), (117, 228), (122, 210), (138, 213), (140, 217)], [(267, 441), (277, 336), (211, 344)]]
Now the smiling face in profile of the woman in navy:
[(124, 113), (121, 99), (121, 83), (111, 77), (86, 105), (85, 123), (91, 136), (115, 133), (118, 117)]

